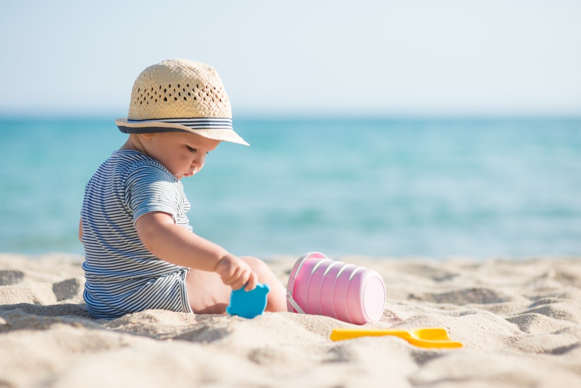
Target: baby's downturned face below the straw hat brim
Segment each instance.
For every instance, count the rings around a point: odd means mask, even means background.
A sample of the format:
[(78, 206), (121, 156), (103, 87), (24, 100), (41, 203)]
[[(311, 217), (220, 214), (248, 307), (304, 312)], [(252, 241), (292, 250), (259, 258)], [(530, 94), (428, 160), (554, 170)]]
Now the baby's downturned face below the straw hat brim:
[(185, 132), (142, 134), (142, 139), (146, 153), (162, 163), (177, 179), (201, 170), (207, 153), (220, 144), (220, 140)]

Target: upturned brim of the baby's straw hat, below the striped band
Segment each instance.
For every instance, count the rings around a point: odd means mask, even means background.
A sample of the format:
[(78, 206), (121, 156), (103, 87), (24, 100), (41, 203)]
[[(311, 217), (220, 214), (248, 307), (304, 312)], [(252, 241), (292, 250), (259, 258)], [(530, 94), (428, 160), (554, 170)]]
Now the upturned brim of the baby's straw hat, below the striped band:
[(232, 129), (222, 128), (196, 128), (192, 129), (176, 123), (164, 123), (156, 121), (128, 122), (127, 118), (115, 120), (115, 124), (123, 133), (163, 133), (163, 132), (189, 132), (213, 140), (229, 141), (230, 143), (250, 145)]

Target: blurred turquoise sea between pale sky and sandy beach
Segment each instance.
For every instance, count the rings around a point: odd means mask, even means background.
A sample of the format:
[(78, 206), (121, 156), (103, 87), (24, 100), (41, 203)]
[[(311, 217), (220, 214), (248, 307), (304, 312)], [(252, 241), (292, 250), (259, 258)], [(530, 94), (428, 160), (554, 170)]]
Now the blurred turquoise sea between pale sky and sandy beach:
[[(0, 119), (0, 251), (82, 254), (110, 118)], [(184, 179), (193, 229), (238, 255), (581, 256), (581, 119), (234, 119)]]

